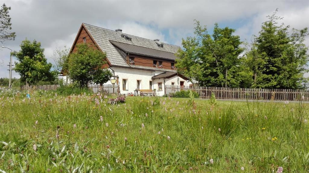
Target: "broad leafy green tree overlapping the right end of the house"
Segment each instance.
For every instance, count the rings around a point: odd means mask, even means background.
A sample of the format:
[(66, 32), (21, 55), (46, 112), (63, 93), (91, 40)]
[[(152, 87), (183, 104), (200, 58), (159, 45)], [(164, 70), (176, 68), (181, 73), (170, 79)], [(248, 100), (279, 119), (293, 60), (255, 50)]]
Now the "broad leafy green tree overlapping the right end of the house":
[[(219, 28), (215, 23), (213, 34), (208, 34), (206, 26), (196, 21), (196, 37), (183, 39), (184, 50), (176, 54), (176, 67), (198, 81), (202, 86), (239, 87), (244, 82), (239, 78), (241, 73), (240, 54), (243, 48), (235, 29)], [(247, 75), (243, 75), (246, 76)]]

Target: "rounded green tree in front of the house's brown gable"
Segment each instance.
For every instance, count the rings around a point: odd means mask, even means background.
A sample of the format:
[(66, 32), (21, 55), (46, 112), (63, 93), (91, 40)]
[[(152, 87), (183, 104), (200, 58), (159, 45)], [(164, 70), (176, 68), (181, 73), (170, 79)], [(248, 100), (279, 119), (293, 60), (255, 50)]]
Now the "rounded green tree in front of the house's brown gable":
[(103, 84), (112, 73), (103, 68), (107, 63), (106, 54), (86, 43), (76, 45), (76, 51), (69, 55), (68, 74), (70, 79), (86, 87), (89, 82)]

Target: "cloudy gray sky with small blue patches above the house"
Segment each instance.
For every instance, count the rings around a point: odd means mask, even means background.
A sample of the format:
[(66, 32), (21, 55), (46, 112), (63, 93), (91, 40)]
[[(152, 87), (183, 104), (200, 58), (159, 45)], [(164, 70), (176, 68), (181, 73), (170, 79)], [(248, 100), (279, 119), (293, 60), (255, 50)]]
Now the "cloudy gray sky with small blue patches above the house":
[[(11, 6), (12, 30), (15, 41), (3, 46), (19, 50), (28, 38), (41, 42), (49, 62), (53, 51), (71, 47), (80, 25), (88, 23), (110, 30), (181, 46), (181, 38), (193, 35), (194, 19), (210, 30), (214, 22), (220, 27), (235, 28), (242, 40), (258, 34), (261, 23), (276, 8), (282, 22), (291, 28), (309, 27), (309, 1), (4, 1)], [(309, 37), (306, 39), (309, 45)], [(1, 45), (2, 46), (2, 45)], [(8, 77), (10, 52), (0, 48), (0, 77)], [(13, 57), (13, 61), (16, 60)], [(19, 75), (13, 72), (13, 77)]]

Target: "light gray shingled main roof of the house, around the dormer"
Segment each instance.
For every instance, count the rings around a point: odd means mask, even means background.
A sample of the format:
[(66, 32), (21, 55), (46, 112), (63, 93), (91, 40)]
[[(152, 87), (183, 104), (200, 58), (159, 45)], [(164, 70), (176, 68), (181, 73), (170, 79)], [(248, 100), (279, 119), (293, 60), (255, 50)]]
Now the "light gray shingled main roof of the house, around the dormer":
[[(116, 47), (113, 46), (111, 42), (109, 42), (109, 40), (131, 44), (135, 46), (142, 46), (142, 47), (155, 49), (155, 50), (161, 50), (161, 51), (170, 52), (173, 54), (176, 53), (178, 49), (180, 49), (179, 46), (175, 46), (175, 45), (171, 45), (167, 43), (163, 43), (164, 46), (159, 47), (157, 43), (153, 40), (126, 34), (132, 38), (132, 40), (128, 40), (128, 39), (121, 37), (121, 33), (118, 33), (116, 31), (108, 30), (108, 29), (101, 28), (98, 26), (89, 25), (86, 23), (83, 23), (83, 24), (86, 27), (86, 29), (89, 31), (91, 36), (94, 38), (98, 46), (101, 48), (101, 50), (103, 50), (106, 53), (107, 58), (109, 62), (111, 62), (112, 66), (114, 65), (114, 66), (129, 67), (125, 59), (121, 56), (119, 51), (116, 50)], [(162, 71), (166, 71), (166, 69), (162, 69)]]

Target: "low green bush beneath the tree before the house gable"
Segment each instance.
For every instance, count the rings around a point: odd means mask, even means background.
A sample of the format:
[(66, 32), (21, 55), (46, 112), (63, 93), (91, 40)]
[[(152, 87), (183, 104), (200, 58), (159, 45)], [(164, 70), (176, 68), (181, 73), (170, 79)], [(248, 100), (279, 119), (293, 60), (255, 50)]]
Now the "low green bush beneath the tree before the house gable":
[(61, 85), (59, 88), (56, 90), (58, 95), (79, 95), (79, 94), (92, 94), (92, 91), (87, 88), (80, 88), (74, 84), (70, 85)]

